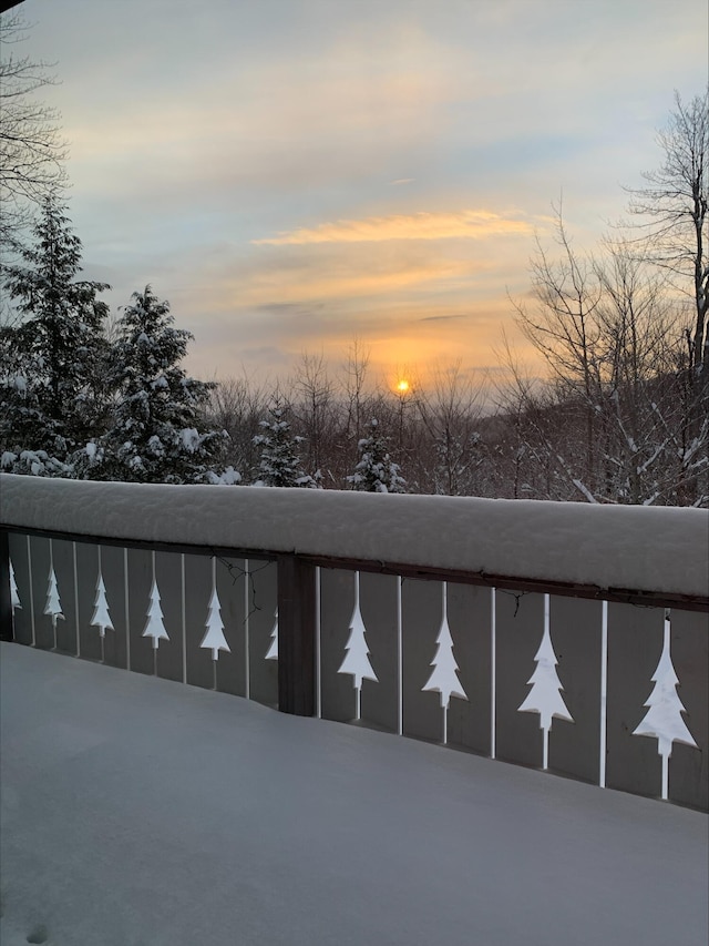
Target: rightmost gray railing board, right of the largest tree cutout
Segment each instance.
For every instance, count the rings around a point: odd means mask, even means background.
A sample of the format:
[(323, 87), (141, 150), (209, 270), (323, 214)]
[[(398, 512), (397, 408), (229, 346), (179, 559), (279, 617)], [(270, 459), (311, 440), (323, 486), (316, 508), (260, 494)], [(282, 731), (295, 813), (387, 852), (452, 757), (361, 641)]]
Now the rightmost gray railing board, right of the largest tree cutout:
[(671, 659), (679, 679), (677, 694), (687, 711), (682, 715), (697, 747), (674, 743), (669, 797), (706, 811), (709, 807), (709, 614), (672, 609), (670, 623)]

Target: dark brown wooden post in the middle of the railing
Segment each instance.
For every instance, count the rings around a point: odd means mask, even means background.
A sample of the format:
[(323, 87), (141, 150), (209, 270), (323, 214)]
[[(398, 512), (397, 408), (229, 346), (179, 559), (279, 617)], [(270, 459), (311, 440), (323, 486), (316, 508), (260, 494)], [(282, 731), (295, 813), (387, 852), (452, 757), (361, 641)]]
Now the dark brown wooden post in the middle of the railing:
[(297, 556), (278, 557), (278, 709), (314, 716), (316, 712), (315, 566)]

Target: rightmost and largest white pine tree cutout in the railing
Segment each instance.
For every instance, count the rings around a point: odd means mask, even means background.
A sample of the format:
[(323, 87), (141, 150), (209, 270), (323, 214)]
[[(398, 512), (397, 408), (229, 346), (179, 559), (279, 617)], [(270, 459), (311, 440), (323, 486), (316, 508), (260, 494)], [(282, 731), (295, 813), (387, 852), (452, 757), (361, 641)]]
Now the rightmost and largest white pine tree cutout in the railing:
[(677, 693), (679, 679), (672, 665), (670, 657), (670, 619), (665, 614), (665, 635), (662, 641), (662, 653), (653, 677), (655, 683), (653, 692), (643, 705), (648, 711), (639, 725), (633, 731), (633, 735), (650, 735), (657, 739), (657, 752), (662, 756), (662, 798), (667, 798), (669, 757), (672, 754), (672, 743), (681, 742), (698, 749), (682, 713), (687, 710)]

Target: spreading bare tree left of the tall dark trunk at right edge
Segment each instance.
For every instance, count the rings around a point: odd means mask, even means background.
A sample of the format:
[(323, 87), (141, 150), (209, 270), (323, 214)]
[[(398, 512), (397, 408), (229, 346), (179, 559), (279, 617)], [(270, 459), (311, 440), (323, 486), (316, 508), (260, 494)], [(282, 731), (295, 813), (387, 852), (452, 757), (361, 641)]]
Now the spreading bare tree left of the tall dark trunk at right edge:
[(516, 376), (533, 494), (568, 499), (573, 485), (588, 501), (703, 505), (707, 424), (696, 386), (686, 396), (686, 319), (666, 276), (620, 241), (577, 253), (561, 215), (557, 236), (561, 258), (538, 246), (532, 262), (535, 304), (516, 306), (551, 376)]

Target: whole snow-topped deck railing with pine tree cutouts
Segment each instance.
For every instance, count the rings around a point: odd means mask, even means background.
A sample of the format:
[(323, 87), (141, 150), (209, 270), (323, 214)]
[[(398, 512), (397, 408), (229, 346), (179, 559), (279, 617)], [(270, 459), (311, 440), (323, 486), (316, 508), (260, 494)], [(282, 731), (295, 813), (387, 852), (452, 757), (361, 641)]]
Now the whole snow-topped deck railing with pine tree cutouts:
[(706, 511), (1, 476), (0, 513), (4, 637), (708, 807)]

